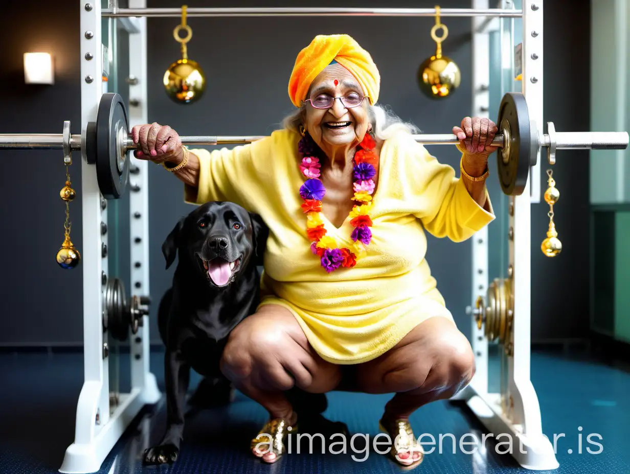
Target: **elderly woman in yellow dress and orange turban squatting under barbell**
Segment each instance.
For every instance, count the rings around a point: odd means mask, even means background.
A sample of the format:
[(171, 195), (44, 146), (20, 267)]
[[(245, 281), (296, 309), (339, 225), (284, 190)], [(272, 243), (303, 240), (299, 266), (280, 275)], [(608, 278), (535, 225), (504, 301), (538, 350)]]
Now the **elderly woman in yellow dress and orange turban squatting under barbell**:
[[(136, 156), (185, 184), (189, 203), (232, 201), (270, 229), (256, 313), (232, 331), (222, 371), (270, 420), (252, 441), (272, 463), (296, 432), (287, 392), (393, 393), (379, 426), (404, 466), (423, 458), (408, 418), (469, 383), (474, 356), (437, 290), (425, 231), (455, 242), (493, 220), (484, 180), (495, 124), (464, 118), (460, 177), (375, 103), (380, 76), (348, 35), (295, 61), (284, 128), (232, 150), (187, 150), (175, 130), (134, 127)], [(243, 230), (235, 230), (243, 232)], [(263, 441), (268, 443), (263, 443)], [(266, 446), (262, 449), (261, 446)]]

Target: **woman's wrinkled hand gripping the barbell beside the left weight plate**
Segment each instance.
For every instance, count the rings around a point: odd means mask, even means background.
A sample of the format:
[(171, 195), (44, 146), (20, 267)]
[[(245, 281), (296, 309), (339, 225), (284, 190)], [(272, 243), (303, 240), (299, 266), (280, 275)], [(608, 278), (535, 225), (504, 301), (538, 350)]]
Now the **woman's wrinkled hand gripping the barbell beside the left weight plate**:
[(139, 144), (134, 156), (141, 160), (178, 162), (183, 154), (180, 135), (168, 125), (156, 122), (135, 125), (131, 137), (134, 144)]

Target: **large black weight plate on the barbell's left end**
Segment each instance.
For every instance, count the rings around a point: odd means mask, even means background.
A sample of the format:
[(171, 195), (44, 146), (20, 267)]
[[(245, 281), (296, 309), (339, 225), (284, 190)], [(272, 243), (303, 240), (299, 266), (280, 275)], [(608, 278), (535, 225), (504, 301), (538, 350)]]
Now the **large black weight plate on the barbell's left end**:
[(117, 145), (121, 127), (126, 136), (129, 119), (122, 98), (115, 93), (103, 94), (96, 115), (96, 178), (105, 199), (120, 198), (129, 181), (128, 152), (120, 156)]

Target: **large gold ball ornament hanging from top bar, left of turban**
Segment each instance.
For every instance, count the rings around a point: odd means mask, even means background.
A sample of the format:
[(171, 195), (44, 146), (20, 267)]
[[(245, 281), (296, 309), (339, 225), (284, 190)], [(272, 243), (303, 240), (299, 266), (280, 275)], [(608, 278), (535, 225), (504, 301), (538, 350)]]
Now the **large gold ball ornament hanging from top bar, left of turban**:
[[(181, 25), (175, 26), (173, 37), (181, 43), (181, 59), (171, 64), (164, 73), (166, 94), (177, 103), (192, 104), (198, 101), (205, 90), (205, 73), (197, 61), (188, 59), (186, 43), (193, 36), (193, 30), (186, 25), (186, 5), (181, 7)], [(186, 37), (180, 37), (180, 30), (186, 31)]]

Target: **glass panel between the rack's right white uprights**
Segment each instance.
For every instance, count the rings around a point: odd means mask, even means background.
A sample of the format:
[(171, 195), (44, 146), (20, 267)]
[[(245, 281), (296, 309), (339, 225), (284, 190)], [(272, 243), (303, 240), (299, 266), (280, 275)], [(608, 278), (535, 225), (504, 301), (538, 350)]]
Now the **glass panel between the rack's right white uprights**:
[[(520, 4), (521, 0), (503, 0), (501, 8), (520, 9)], [(498, 30), (490, 32), (490, 110), (495, 113), (498, 113), (505, 93), (522, 91), (520, 78), (515, 79), (515, 47), (522, 42), (522, 19), (501, 18), (498, 23)], [(493, 120), (496, 121), (497, 117)], [(490, 173), (497, 176), (496, 155), (490, 158), (488, 167)], [(488, 276), (491, 284), (495, 279), (507, 278), (510, 198), (501, 190), (498, 179), (488, 180), (488, 192), (496, 215), (488, 226)], [(486, 298), (486, 304), (489, 303)], [(504, 392), (508, 361), (503, 344), (498, 344), (498, 341), (488, 344), (488, 363), (488, 390)]]

